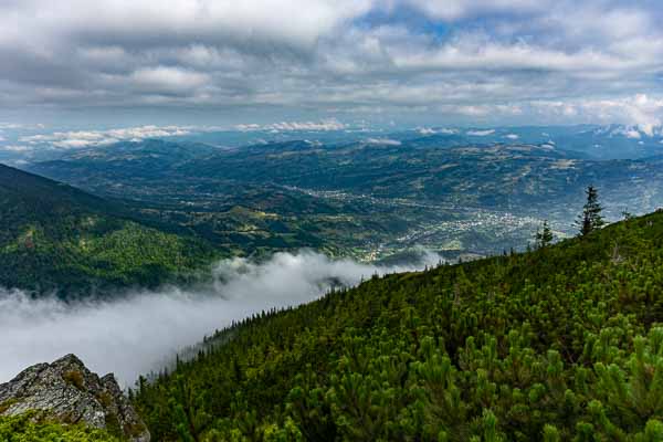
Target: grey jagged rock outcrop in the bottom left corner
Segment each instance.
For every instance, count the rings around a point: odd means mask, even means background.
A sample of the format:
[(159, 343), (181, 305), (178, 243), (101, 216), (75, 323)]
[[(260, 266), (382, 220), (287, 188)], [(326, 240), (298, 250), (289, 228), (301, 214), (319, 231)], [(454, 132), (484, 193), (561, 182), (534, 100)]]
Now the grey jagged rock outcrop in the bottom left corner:
[(115, 377), (99, 378), (74, 355), (38, 364), (0, 385), (0, 414), (35, 410), (44, 419), (106, 429), (133, 442), (149, 442), (147, 427)]

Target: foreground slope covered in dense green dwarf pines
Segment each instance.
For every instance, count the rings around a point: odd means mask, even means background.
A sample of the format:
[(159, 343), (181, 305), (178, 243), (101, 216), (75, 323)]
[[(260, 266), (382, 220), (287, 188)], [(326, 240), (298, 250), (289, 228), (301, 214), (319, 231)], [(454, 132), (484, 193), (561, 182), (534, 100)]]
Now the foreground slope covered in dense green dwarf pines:
[(662, 288), (653, 213), (250, 318), (134, 402), (165, 441), (660, 441)]

